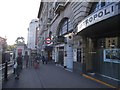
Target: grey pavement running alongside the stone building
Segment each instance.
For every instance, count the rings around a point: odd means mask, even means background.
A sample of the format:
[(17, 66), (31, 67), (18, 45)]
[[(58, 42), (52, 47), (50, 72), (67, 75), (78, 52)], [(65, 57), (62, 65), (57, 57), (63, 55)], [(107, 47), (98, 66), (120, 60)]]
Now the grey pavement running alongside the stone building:
[[(8, 81), (2, 83), (2, 88), (110, 88), (104, 84), (85, 78), (80, 74), (65, 70), (55, 64), (40, 64), (23, 68), (19, 80), (11, 74)], [(110, 89), (109, 89), (110, 90)]]

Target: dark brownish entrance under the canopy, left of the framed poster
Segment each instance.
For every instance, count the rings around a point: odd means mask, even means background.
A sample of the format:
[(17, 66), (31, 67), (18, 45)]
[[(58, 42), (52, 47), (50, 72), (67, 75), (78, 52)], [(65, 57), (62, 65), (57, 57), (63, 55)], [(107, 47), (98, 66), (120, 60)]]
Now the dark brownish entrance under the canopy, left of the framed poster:
[(87, 48), (87, 71), (93, 73), (100, 72), (100, 57), (99, 57), (99, 44), (98, 39), (90, 39), (88, 40), (88, 48)]

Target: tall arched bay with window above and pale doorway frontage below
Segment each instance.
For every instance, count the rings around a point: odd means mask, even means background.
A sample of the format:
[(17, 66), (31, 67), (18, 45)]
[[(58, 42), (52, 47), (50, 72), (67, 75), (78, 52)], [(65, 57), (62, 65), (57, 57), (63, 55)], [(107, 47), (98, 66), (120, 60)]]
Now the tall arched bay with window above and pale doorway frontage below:
[(55, 62), (73, 69), (73, 27), (68, 17), (61, 19), (55, 37)]

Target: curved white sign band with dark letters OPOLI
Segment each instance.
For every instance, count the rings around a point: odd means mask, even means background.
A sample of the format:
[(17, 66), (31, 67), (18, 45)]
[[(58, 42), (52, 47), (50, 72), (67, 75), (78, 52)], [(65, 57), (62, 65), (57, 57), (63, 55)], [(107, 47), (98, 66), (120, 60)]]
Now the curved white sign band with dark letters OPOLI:
[(77, 32), (80, 32), (81, 30), (83, 30), (84, 28), (87, 28), (88, 26), (92, 24), (95, 24), (97, 22), (100, 22), (102, 20), (115, 16), (117, 14), (120, 14), (118, 12), (120, 4), (118, 3), (112, 3), (100, 9), (99, 11), (96, 11), (95, 13), (90, 14), (88, 17), (86, 17), (82, 22), (78, 24)]

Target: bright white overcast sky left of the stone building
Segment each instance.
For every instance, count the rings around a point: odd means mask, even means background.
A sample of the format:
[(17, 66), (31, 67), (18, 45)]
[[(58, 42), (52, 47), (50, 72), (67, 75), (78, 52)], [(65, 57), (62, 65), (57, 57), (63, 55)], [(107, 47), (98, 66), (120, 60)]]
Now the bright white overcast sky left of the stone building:
[(0, 0), (0, 36), (7, 44), (15, 44), (17, 37), (27, 43), (29, 23), (37, 19), (40, 0)]

